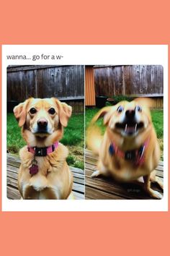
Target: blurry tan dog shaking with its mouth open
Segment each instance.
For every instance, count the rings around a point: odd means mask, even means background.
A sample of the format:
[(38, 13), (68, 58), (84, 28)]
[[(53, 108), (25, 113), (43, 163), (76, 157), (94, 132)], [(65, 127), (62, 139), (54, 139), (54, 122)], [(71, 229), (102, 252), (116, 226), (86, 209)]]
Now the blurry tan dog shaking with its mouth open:
[[(161, 199), (161, 193), (151, 189), (151, 182), (157, 182), (163, 189), (155, 171), (160, 148), (151, 121), (151, 105), (148, 98), (136, 98), (102, 108), (91, 120), (86, 142), (99, 155), (97, 171), (91, 177), (112, 174), (119, 182), (132, 182), (143, 176), (146, 192)], [(106, 126), (104, 136), (95, 124), (101, 117)]]

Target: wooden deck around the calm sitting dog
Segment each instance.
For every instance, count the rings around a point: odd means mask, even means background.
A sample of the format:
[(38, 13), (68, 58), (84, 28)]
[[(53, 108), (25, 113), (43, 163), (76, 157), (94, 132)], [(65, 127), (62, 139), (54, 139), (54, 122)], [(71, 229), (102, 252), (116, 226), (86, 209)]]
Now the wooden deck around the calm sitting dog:
[[(16, 155), (7, 154), (7, 197), (20, 199), (21, 195), (17, 187), (17, 174), (20, 159)], [(73, 173), (73, 195), (76, 199), (84, 199), (84, 171), (70, 166)]]

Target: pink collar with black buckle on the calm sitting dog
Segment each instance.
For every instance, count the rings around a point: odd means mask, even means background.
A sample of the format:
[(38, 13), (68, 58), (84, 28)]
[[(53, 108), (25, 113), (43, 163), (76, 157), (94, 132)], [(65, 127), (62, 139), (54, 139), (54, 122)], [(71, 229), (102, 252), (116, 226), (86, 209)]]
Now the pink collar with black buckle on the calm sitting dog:
[(52, 153), (56, 148), (58, 148), (58, 141), (55, 142), (53, 145), (45, 148), (30, 147), (29, 145), (27, 145), (28, 151), (35, 156), (46, 156)]

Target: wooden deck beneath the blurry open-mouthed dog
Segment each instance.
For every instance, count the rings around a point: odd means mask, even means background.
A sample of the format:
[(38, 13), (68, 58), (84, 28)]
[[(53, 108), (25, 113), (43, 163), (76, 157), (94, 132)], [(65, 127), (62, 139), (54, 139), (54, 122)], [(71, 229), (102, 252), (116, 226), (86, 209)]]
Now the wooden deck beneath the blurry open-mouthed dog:
[[(86, 150), (85, 184), (86, 199), (152, 199), (143, 189), (143, 179), (140, 182), (118, 183), (114, 179), (99, 176), (91, 178), (91, 174), (97, 170), (97, 157), (90, 150)], [(156, 168), (156, 175), (163, 180), (164, 162), (160, 161)], [(163, 194), (157, 184), (151, 187)]]

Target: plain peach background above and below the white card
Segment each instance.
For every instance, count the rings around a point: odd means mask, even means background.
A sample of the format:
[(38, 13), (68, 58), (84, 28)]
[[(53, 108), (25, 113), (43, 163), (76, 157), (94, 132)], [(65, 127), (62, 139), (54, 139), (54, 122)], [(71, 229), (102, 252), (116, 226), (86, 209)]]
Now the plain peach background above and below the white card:
[[(3, 2), (1, 44), (170, 43), (169, 1), (165, 0)], [(1, 212), (0, 252), (165, 256), (169, 255), (169, 224), (169, 212)]]

